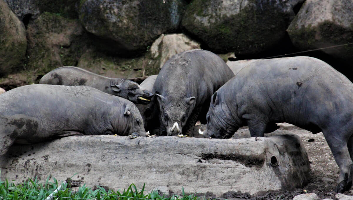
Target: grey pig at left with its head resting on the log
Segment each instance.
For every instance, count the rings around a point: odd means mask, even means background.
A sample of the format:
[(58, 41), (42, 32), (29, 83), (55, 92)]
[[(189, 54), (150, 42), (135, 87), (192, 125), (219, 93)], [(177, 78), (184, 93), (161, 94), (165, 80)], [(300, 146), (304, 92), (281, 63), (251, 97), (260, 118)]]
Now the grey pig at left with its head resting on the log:
[(146, 136), (137, 107), (89, 86), (26, 85), (0, 95), (0, 155), (71, 135)]

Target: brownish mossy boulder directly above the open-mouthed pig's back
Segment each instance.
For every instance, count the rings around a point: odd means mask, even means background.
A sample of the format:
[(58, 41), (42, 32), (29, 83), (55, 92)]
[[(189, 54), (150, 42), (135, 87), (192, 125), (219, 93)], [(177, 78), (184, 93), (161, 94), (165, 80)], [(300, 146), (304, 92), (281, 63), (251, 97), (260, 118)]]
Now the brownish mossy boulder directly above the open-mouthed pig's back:
[(28, 24), (26, 68), (44, 75), (54, 68), (76, 66), (90, 38), (78, 19), (44, 12)]

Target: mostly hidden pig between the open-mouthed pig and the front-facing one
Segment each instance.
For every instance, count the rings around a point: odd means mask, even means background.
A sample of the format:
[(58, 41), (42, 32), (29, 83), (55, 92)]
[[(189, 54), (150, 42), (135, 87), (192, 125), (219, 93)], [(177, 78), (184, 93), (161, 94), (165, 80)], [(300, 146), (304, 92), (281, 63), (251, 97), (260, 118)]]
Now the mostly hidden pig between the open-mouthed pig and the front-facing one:
[[(140, 86), (148, 91), (152, 91), (156, 78), (157, 75), (150, 75), (142, 81)], [(136, 104), (136, 107), (140, 111), (146, 131), (150, 131), (152, 133), (154, 130), (160, 128), (157, 107), (153, 101), (146, 105)]]

